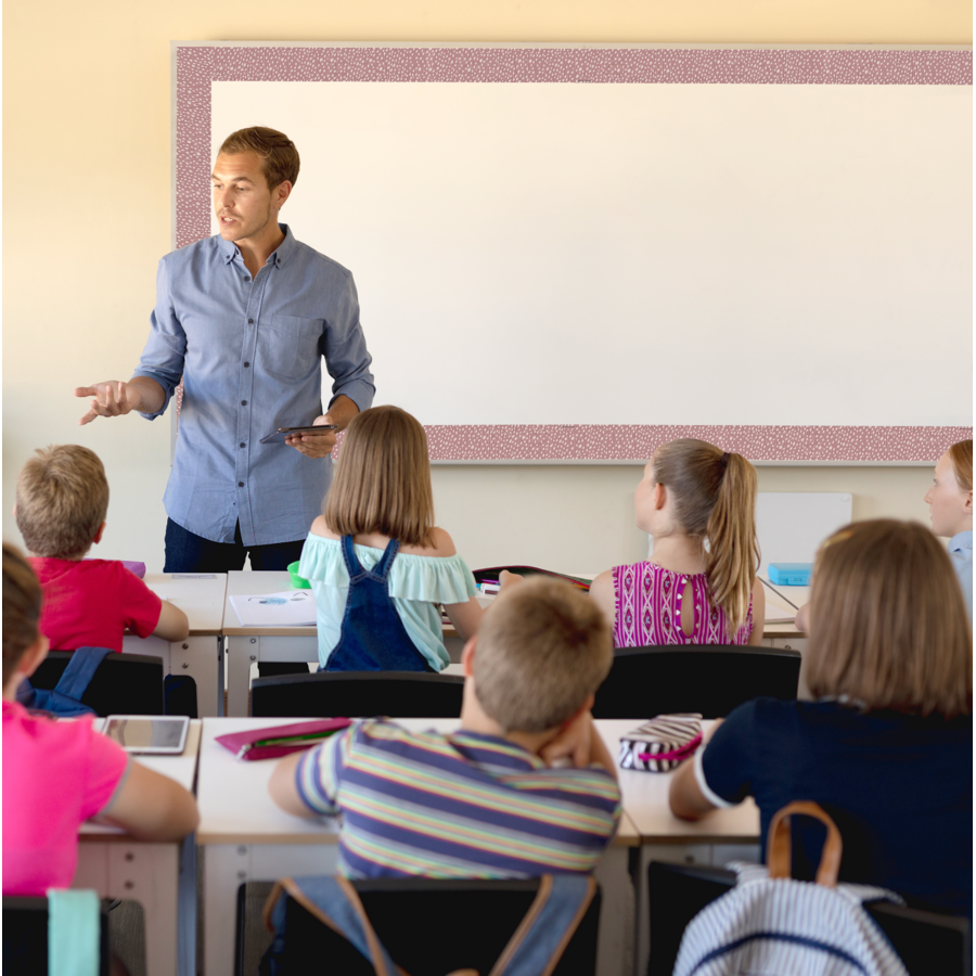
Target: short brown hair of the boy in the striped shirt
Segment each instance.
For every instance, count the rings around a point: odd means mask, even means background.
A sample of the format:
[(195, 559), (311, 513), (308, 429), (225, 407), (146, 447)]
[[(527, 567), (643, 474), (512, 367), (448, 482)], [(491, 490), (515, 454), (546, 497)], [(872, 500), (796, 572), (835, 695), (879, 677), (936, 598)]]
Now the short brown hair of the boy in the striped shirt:
[(613, 662), (613, 632), (600, 607), (568, 583), (537, 576), (485, 614), (475, 694), (505, 732), (544, 732), (573, 718)]

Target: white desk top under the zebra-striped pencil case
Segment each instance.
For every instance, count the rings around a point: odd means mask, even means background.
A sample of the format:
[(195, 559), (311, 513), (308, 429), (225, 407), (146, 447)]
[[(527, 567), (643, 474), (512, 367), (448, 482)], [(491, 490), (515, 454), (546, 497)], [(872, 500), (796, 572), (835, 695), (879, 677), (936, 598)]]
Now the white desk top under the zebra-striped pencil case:
[[(599, 719), (596, 728), (612, 756), (619, 752), (620, 736), (643, 719)], [(711, 722), (703, 723), (706, 728)], [(679, 820), (668, 806), (673, 773), (618, 771), (624, 809), (637, 827), (642, 844), (754, 844), (759, 839), (759, 809), (752, 798), (728, 810), (716, 810), (703, 820)]]

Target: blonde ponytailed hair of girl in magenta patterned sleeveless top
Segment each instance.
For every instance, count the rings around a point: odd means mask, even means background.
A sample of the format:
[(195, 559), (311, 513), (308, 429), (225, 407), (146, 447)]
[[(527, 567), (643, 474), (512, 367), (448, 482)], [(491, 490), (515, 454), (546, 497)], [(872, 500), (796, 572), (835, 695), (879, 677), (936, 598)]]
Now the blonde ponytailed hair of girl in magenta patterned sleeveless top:
[(756, 468), (742, 454), (688, 437), (658, 448), (653, 467), (654, 480), (671, 493), (681, 528), (708, 540), (708, 595), (737, 630), (749, 612), (759, 568)]

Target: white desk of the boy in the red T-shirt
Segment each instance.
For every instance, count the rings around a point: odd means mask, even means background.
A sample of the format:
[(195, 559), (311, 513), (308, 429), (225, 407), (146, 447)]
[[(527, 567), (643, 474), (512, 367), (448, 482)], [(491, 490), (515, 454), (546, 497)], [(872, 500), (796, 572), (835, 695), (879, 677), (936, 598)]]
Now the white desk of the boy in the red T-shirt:
[(141, 639), (127, 633), (123, 651), (162, 657), (165, 673), (187, 675), (196, 682), (201, 716), (222, 715), (227, 574), (147, 573), (145, 583), (190, 618), (190, 637), (169, 643), (157, 637)]

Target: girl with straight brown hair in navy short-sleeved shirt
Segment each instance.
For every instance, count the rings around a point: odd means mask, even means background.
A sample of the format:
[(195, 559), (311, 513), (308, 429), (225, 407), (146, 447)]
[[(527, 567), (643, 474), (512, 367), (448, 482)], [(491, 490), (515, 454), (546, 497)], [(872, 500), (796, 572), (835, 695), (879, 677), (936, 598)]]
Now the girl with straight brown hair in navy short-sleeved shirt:
[[(921, 525), (862, 522), (821, 547), (810, 603), (813, 702), (741, 705), (671, 783), (697, 820), (753, 796), (769, 821), (813, 800), (844, 839), (842, 881), (973, 916), (973, 639), (946, 551)], [(794, 874), (823, 839), (794, 827)]]

